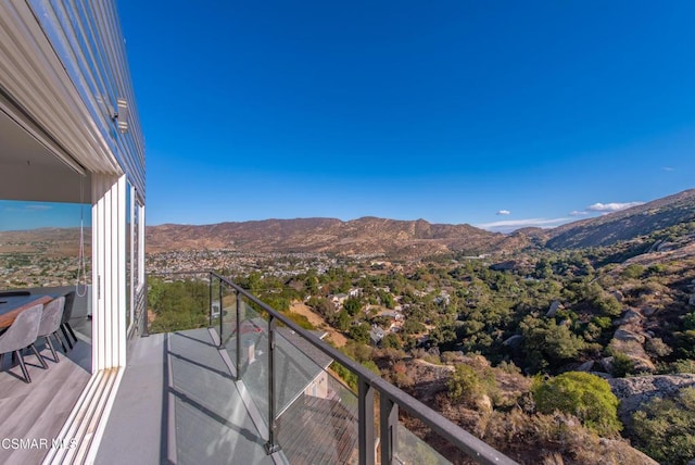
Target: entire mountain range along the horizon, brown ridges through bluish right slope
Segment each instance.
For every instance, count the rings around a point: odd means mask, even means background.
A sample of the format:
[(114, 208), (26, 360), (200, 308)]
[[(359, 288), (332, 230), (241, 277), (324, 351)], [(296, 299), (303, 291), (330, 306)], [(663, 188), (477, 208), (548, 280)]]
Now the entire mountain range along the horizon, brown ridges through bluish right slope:
[(149, 226), (147, 247), (148, 252), (230, 249), (417, 259), (453, 252), (514, 252), (532, 244), (553, 250), (610, 246), (692, 221), (695, 189), (552, 229), (525, 228), (509, 235), (425, 219), (298, 218)]

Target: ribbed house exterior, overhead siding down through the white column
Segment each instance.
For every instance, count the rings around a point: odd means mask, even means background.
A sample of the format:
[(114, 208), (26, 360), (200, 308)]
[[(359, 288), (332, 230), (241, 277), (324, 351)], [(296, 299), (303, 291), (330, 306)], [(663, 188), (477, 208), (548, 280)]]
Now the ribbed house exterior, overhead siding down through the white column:
[[(115, 3), (0, 2), (0, 111), (76, 173), (55, 186), (76, 183), (79, 192), (75, 179), (88, 180), (93, 369), (125, 366), (127, 324), (147, 314), (146, 165)], [(40, 197), (76, 201), (58, 189)]]

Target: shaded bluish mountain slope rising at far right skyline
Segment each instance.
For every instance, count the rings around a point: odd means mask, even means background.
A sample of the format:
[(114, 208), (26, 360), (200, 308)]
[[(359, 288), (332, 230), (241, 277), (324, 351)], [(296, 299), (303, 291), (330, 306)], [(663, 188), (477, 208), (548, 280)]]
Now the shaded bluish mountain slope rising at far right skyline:
[(596, 218), (558, 226), (547, 230), (545, 246), (553, 250), (610, 246), (692, 221), (695, 221), (695, 189)]

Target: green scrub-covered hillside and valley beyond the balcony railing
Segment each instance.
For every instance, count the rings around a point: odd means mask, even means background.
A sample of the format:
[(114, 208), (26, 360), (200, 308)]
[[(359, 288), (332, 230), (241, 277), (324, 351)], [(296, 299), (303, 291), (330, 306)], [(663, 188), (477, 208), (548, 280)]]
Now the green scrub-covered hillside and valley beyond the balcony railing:
[[(643, 406), (641, 427), (623, 428), (596, 375), (693, 373), (694, 231), (684, 223), (602, 248), (355, 260), (323, 273), (231, 278), (309, 328), (289, 310), (305, 303), (353, 341), (344, 349), (352, 357), (519, 460), (646, 463), (619, 439), (622, 430), (653, 457), (681, 463), (695, 433), (668, 426), (693, 423), (690, 391)], [(204, 309), (188, 305), (176, 286), (150, 280), (152, 326), (204, 325)], [(349, 370), (333, 370), (355, 386)], [(669, 445), (673, 438), (681, 445)], [(533, 452), (519, 445), (532, 442)]]

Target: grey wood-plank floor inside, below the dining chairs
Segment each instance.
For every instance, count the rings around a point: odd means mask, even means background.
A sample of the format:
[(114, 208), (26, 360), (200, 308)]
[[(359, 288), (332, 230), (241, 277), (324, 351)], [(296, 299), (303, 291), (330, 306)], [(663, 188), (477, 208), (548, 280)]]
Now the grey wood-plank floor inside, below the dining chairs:
[(27, 354), (30, 384), (24, 382), (18, 365), (9, 368), (12, 357), (4, 357), (0, 372), (2, 464), (40, 463), (91, 377), (91, 345), (79, 341), (67, 355), (59, 351), (58, 364), (48, 347), (38, 348), (49, 368), (41, 368), (36, 356)]

